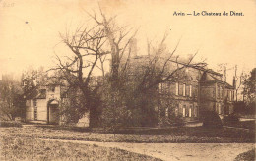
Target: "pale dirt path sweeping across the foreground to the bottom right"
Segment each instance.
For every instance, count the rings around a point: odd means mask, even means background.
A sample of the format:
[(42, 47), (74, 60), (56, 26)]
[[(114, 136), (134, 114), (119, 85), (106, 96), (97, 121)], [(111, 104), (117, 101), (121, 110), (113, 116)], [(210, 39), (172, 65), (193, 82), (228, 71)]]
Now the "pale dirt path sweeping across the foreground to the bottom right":
[(54, 141), (86, 143), (119, 148), (166, 161), (233, 161), (238, 154), (254, 147), (253, 143), (120, 143), (81, 140)]

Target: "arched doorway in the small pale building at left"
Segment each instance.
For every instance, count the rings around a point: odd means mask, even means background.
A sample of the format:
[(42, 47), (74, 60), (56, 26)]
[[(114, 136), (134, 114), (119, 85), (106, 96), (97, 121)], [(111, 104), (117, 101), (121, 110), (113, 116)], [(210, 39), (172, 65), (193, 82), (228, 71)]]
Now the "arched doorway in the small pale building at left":
[(47, 124), (59, 123), (59, 101), (51, 99), (47, 103)]

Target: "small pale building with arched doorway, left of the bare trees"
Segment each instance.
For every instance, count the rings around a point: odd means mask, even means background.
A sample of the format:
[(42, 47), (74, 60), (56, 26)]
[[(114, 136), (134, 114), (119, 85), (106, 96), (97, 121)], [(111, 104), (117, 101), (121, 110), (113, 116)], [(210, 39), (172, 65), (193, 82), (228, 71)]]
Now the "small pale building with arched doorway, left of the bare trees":
[[(59, 84), (36, 86), (26, 96), (26, 121), (44, 124), (62, 124), (60, 104), (67, 100), (65, 86)], [(89, 115), (79, 120), (77, 126), (88, 127)]]

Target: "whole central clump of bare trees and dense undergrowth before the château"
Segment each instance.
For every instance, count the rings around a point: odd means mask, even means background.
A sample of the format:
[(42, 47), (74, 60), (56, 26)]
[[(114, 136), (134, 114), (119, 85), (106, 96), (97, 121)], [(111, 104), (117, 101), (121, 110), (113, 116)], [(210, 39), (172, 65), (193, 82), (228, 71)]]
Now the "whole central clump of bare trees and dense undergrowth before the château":
[[(62, 79), (82, 93), (83, 105), (74, 107), (76, 110), (66, 110), (70, 113), (89, 110), (90, 127), (95, 126), (92, 119), (98, 117), (101, 109), (101, 120), (111, 129), (127, 126), (127, 123), (130, 126), (157, 125), (158, 84), (180, 80), (187, 67), (206, 64), (192, 63), (197, 53), (177, 63), (178, 57), (173, 55), (178, 44), (169, 52), (165, 45), (167, 34), (159, 45), (148, 44), (149, 53), (145, 59), (136, 59), (137, 30), (119, 26), (115, 17), (108, 18), (100, 7), (98, 14), (88, 14), (93, 24), (60, 34), (71, 54), (57, 56), (58, 63), (51, 69), (61, 71)], [(105, 71), (105, 66), (109, 66), (105, 60), (110, 60), (109, 73)], [(96, 77), (96, 70), (102, 74), (100, 79)]]

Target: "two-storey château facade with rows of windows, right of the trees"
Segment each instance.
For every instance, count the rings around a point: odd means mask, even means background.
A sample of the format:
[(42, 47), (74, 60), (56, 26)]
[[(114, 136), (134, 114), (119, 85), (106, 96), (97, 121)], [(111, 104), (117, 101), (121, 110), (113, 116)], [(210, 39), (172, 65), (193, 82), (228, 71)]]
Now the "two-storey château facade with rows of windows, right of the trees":
[(233, 112), (234, 88), (222, 80), (221, 74), (193, 68), (185, 73), (188, 77), (184, 80), (159, 84), (161, 97), (171, 93), (168, 99), (177, 102), (177, 115), (193, 121), (204, 111), (215, 111), (221, 117)]

